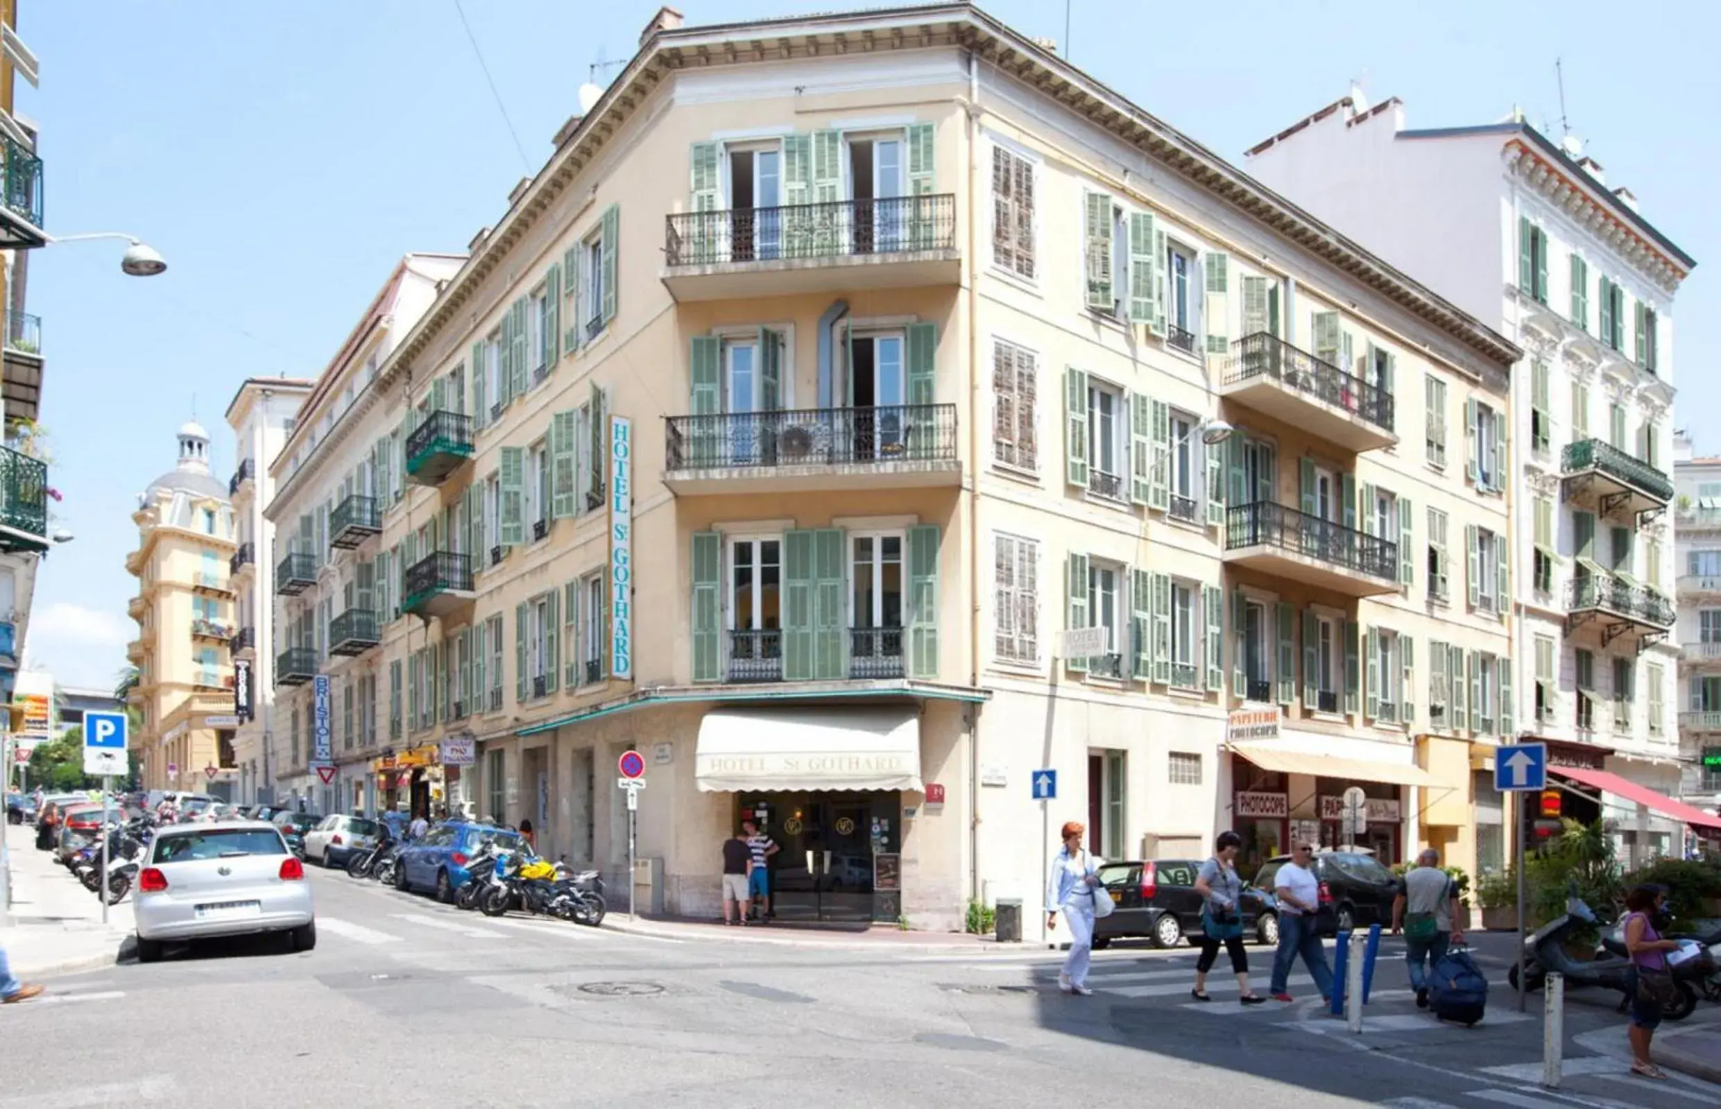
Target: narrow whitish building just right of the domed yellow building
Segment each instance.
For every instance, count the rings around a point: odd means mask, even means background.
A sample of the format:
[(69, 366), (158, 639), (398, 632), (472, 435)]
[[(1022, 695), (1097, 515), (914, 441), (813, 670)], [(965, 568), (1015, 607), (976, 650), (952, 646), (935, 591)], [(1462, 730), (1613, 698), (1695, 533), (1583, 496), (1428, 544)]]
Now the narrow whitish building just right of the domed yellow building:
[[(231, 641), (234, 704), (237, 718), (232, 746), (239, 765), (236, 801), (244, 804), (275, 799), (275, 751), (268, 737), (275, 732), (275, 658), (267, 649), (275, 639), (275, 598), (270, 573), (258, 570), (275, 544), (275, 525), (263, 508), (275, 496), (270, 460), (293, 434), (299, 405), (315, 382), (299, 377), (246, 377), (227, 405), (232, 429), (232, 477), (227, 499), (232, 503), (236, 539), (231, 558), (234, 587), (234, 629)], [(258, 649), (265, 644), (265, 649)]]

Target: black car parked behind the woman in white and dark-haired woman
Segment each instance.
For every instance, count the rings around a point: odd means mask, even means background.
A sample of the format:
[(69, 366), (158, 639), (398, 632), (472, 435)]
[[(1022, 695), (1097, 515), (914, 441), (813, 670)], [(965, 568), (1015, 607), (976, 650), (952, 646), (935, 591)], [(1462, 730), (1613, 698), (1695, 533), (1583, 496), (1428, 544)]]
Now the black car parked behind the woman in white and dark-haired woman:
[[(1100, 882), (1117, 906), (1110, 916), (1093, 921), (1093, 945), (1105, 949), (1112, 940), (1144, 935), (1155, 947), (1175, 947), (1186, 935), (1201, 942), (1201, 894), (1194, 878), (1203, 859), (1138, 859), (1107, 863)], [(1243, 887), (1243, 933), (1261, 944), (1279, 942), (1279, 911), (1272, 892)]]

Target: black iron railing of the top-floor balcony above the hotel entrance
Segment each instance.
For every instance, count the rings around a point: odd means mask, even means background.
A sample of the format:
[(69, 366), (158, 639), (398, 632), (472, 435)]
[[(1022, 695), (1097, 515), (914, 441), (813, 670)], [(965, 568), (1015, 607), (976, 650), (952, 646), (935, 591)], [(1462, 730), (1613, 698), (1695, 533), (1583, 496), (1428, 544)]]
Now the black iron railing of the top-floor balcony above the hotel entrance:
[(668, 265), (895, 255), (955, 245), (953, 193), (676, 212), (664, 219)]

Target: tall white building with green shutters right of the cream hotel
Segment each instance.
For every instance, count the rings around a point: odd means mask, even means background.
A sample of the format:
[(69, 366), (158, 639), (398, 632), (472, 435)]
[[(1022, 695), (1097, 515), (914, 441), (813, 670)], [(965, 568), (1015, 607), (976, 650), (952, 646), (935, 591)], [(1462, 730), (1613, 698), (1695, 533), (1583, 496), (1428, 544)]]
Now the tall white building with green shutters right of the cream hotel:
[(1676, 851), (1673, 300), (1695, 262), (1576, 139), (1521, 119), (1418, 131), (1353, 91), (1246, 165), (1525, 350), (1494, 432), (1521, 489), (1516, 718), (1564, 815), (1606, 818), (1621, 858)]

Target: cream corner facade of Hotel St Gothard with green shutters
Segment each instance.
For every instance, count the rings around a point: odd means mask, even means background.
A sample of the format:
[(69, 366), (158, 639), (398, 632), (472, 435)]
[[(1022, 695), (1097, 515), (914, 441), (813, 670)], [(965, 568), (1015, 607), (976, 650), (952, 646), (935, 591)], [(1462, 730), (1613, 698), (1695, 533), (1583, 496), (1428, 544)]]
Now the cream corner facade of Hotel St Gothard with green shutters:
[(1466, 539), (1509, 493), (1466, 418), (1516, 348), (976, 9), (759, 33), (661, 14), (379, 369), (415, 417), (375, 551), (423, 616), (384, 634), (394, 746), (473, 739), (449, 801), (611, 871), (640, 751), (638, 892), (685, 914), (742, 816), (780, 916), (957, 928), (1038, 904), (1064, 820), (1175, 858), (1243, 792), (1265, 858), (1361, 775), (1370, 842), (1473, 863), (1511, 699)]

